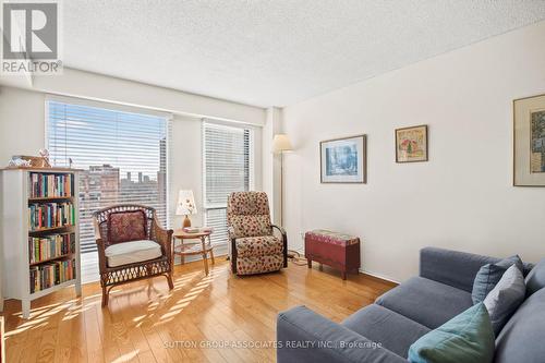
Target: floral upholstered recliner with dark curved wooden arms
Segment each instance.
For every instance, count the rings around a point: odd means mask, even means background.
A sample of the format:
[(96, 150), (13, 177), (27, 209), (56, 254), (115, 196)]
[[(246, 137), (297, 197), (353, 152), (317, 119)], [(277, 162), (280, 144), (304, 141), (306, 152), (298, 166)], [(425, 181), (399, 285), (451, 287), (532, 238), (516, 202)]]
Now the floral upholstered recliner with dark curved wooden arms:
[[(288, 267), (286, 231), (270, 223), (264, 192), (237, 192), (227, 202), (231, 268), (237, 275), (270, 273)], [(281, 238), (272, 235), (277, 228)]]

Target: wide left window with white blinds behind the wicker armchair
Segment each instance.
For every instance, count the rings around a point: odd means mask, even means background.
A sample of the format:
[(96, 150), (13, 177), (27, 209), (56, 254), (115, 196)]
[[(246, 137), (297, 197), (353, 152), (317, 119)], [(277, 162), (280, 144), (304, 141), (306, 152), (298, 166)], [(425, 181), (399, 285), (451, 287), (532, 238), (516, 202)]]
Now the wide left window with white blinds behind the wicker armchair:
[(46, 101), (47, 147), (53, 166), (80, 173), (80, 238), (82, 252), (96, 250), (93, 213), (113, 204), (135, 203), (156, 208), (168, 219), (167, 117), (101, 107)]

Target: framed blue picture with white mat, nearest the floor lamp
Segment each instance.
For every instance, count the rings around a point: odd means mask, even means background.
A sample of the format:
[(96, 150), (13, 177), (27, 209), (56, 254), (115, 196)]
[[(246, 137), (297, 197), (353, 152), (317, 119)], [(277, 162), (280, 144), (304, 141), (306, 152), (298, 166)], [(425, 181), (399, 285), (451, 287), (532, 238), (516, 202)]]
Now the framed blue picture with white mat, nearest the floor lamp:
[(366, 136), (358, 135), (319, 143), (322, 183), (366, 183)]

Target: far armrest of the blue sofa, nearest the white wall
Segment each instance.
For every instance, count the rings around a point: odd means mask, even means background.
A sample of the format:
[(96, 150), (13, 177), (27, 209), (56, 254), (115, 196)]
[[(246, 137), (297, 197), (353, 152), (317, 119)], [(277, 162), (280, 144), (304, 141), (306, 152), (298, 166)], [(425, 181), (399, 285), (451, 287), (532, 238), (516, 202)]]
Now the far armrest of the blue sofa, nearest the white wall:
[(424, 247), (420, 251), (420, 276), (471, 292), (479, 269), (498, 261), (473, 253)]

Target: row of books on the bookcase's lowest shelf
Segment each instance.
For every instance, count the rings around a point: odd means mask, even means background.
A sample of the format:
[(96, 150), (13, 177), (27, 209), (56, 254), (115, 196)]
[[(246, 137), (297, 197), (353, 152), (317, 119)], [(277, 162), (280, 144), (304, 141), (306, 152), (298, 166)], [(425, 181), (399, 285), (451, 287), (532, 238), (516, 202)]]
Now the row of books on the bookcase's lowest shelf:
[(72, 280), (74, 277), (74, 259), (58, 261), (31, 267), (31, 293)]

